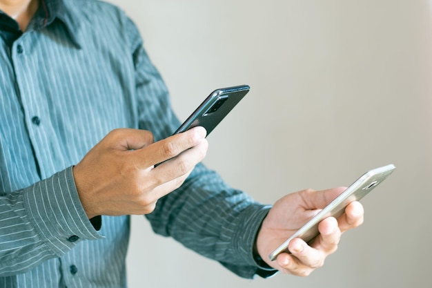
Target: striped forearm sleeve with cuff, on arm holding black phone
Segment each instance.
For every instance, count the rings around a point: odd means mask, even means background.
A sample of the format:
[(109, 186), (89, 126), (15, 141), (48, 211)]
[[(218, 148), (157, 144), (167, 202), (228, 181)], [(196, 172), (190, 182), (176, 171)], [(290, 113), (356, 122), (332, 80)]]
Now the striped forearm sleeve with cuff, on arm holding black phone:
[(0, 276), (63, 256), (82, 240), (103, 238), (79, 200), (72, 167), (12, 193), (0, 192)]

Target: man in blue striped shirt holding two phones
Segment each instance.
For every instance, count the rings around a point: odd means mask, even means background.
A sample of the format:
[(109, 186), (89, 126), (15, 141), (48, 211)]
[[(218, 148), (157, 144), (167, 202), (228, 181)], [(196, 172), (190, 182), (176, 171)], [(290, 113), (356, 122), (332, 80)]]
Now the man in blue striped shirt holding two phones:
[(199, 164), (206, 131), (170, 136), (179, 122), (166, 87), (118, 8), (0, 0), (0, 10), (0, 287), (126, 287), (130, 214), (245, 278), (306, 276), (362, 223), (354, 202), (311, 246), (296, 239), (271, 262), (342, 188), (268, 207)]

